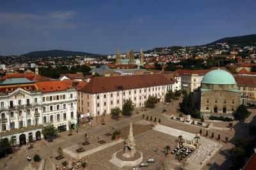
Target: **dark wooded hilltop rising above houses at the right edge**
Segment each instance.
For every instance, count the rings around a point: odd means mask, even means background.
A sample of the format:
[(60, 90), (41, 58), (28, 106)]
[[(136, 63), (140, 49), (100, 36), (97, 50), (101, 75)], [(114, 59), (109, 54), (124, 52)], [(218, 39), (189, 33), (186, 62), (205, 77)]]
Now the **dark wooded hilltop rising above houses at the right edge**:
[(244, 35), (244, 36), (233, 36), (233, 37), (226, 37), (221, 38), (215, 42), (206, 44), (206, 45), (214, 45), (216, 43), (228, 43), (228, 44), (254, 44), (256, 43), (256, 35)]

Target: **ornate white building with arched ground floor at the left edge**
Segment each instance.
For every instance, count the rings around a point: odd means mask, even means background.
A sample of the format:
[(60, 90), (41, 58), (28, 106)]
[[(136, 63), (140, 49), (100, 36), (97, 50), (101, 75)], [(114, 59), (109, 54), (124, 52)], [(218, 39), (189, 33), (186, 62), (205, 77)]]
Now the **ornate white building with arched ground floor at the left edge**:
[(59, 132), (76, 127), (76, 89), (61, 81), (2, 80), (0, 115), (1, 138), (12, 139), (14, 146), (40, 140), (49, 123)]

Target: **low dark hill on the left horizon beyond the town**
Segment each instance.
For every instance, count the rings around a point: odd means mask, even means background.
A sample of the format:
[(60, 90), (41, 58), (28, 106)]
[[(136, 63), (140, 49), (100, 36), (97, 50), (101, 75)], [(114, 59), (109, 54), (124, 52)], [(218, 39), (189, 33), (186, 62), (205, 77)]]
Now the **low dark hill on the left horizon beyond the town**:
[(77, 51), (69, 51), (69, 50), (40, 50), (33, 51), (27, 54), (23, 54), (22, 56), (36, 58), (36, 57), (59, 57), (59, 56), (103, 56), (101, 54), (91, 54), (88, 52), (77, 52)]

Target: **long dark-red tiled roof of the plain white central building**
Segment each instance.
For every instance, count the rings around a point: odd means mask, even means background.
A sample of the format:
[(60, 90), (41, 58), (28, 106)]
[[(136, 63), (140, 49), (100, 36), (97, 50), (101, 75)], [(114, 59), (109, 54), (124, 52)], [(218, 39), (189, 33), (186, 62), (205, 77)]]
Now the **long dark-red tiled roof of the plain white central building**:
[(94, 77), (81, 91), (88, 93), (102, 93), (122, 89), (145, 88), (150, 86), (161, 86), (171, 84), (162, 74), (129, 75), (115, 77)]

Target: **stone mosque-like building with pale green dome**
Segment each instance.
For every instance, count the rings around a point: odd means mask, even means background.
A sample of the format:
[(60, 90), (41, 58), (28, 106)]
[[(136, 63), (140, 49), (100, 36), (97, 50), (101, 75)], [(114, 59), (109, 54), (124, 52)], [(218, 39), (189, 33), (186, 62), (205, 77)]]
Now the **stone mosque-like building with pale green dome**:
[[(198, 89), (201, 112), (232, 113), (241, 104), (241, 91), (233, 75), (220, 68), (205, 74)], [(245, 102), (245, 101), (243, 101)]]

